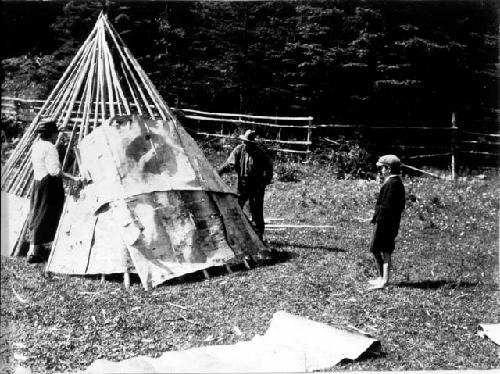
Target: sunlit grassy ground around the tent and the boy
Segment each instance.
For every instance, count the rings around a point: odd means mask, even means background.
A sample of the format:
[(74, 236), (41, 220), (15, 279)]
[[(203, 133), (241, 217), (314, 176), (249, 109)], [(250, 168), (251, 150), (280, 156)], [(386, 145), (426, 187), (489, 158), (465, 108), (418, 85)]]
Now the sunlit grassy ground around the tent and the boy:
[(270, 186), (265, 216), (335, 229), (268, 232), (280, 260), (252, 270), (211, 269), (210, 280), (194, 274), (145, 292), (138, 282), (126, 291), (119, 279), (47, 279), (39, 265), (2, 258), (2, 365), (57, 372), (98, 358), (232, 344), (265, 333), (273, 313), (285, 310), (381, 341), (381, 355), (333, 370), (500, 366), (498, 347), (476, 335), (479, 323), (500, 322), (497, 177), (405, 179), (394, 278), (378, 291), (367, 290), (375, 273), (363, 220), (380, 186), (336, 180), (318, 165), (301, 165), (299, 177)]

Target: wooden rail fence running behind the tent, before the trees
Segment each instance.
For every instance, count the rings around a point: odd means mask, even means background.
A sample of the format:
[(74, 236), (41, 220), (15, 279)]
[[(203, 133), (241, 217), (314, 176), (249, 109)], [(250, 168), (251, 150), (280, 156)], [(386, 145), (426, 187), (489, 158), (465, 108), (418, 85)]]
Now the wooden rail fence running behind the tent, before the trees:
[[(30, 122), (43, 101), (2, 97), (2, 115)], [(175, 110), (175, 109), (174, 109)], [(499, 160), (500, 134), (460, 130), (451, 115), (446, 126), (363, 126), (314, 124), (313, 117), (272, 117), (234, 113), (211, 113), (193, 109), (175, 110), (181, 122), (200, 137), (236, 138), (246, 129), (254, 129), (269, 148), (283, 153), (309, 154), (320, 148), (336, 150), (339, 139), (355, 140), (371, 153), (396, 153), (405, 160), (447, 159), (452, 177), (459, 155), (475, 155)], [(422, 139), (426, 144), (415, 141)], [(376, 139), (374, 142), (373, 139)]]

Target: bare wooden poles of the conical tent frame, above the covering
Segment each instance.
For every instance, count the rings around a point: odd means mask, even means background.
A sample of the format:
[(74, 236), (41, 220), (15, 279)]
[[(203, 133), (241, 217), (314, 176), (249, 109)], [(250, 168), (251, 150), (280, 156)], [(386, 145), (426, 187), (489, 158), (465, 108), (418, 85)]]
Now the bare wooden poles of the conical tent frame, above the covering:
[[(31, 148), (43, 120), (57, 122), (61, 132), (56, 145), (63, 155), (63, 170), (78, 174), (73, 147), (113, 116), (131, 114), (177, 123), (154, 84), (109, 23), (106, 14), (101, 12), (2, 168), (2, 191), (22, 198), (30, 195), (33, 184)], [(9, 208), (9, 211), (17, 210)], [(26, 228), (26, 219), (21, 221)]]

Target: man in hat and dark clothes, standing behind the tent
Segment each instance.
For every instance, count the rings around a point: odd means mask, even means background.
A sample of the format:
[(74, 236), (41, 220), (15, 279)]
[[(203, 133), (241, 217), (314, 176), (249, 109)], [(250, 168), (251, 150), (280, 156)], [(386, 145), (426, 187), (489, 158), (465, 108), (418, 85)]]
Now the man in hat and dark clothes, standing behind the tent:
[(234, 170), (238, 175), (238, 203), (243, 208), (248, 201), (255, 232), (264, 235), (264, 193), (273, 179), (273, 160), (267, 149), (255, 141), (256, 133), (247, 130), (239, 139), (242, 144), (233, 149), (226, 162), (217, 170), (219, 175)]

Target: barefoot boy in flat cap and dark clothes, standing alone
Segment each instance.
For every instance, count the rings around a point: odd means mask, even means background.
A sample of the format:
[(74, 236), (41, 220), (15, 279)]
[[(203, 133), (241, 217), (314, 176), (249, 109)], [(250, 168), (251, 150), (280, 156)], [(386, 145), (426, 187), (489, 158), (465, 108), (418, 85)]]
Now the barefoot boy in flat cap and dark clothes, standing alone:
[(384, 288), (391, 271), (391, 255), (395, 247), (401, 221), (401, 213), (405, 208), (405, 188), (401, 179), (401, 161), (395, 155), (385, 155), (378, 159), (384, 183), (375, 205), (375, 213), (371, 223), (374, 224), (370, 251), (375, 258), (378, 277), (370, 280), (370, 289)]

